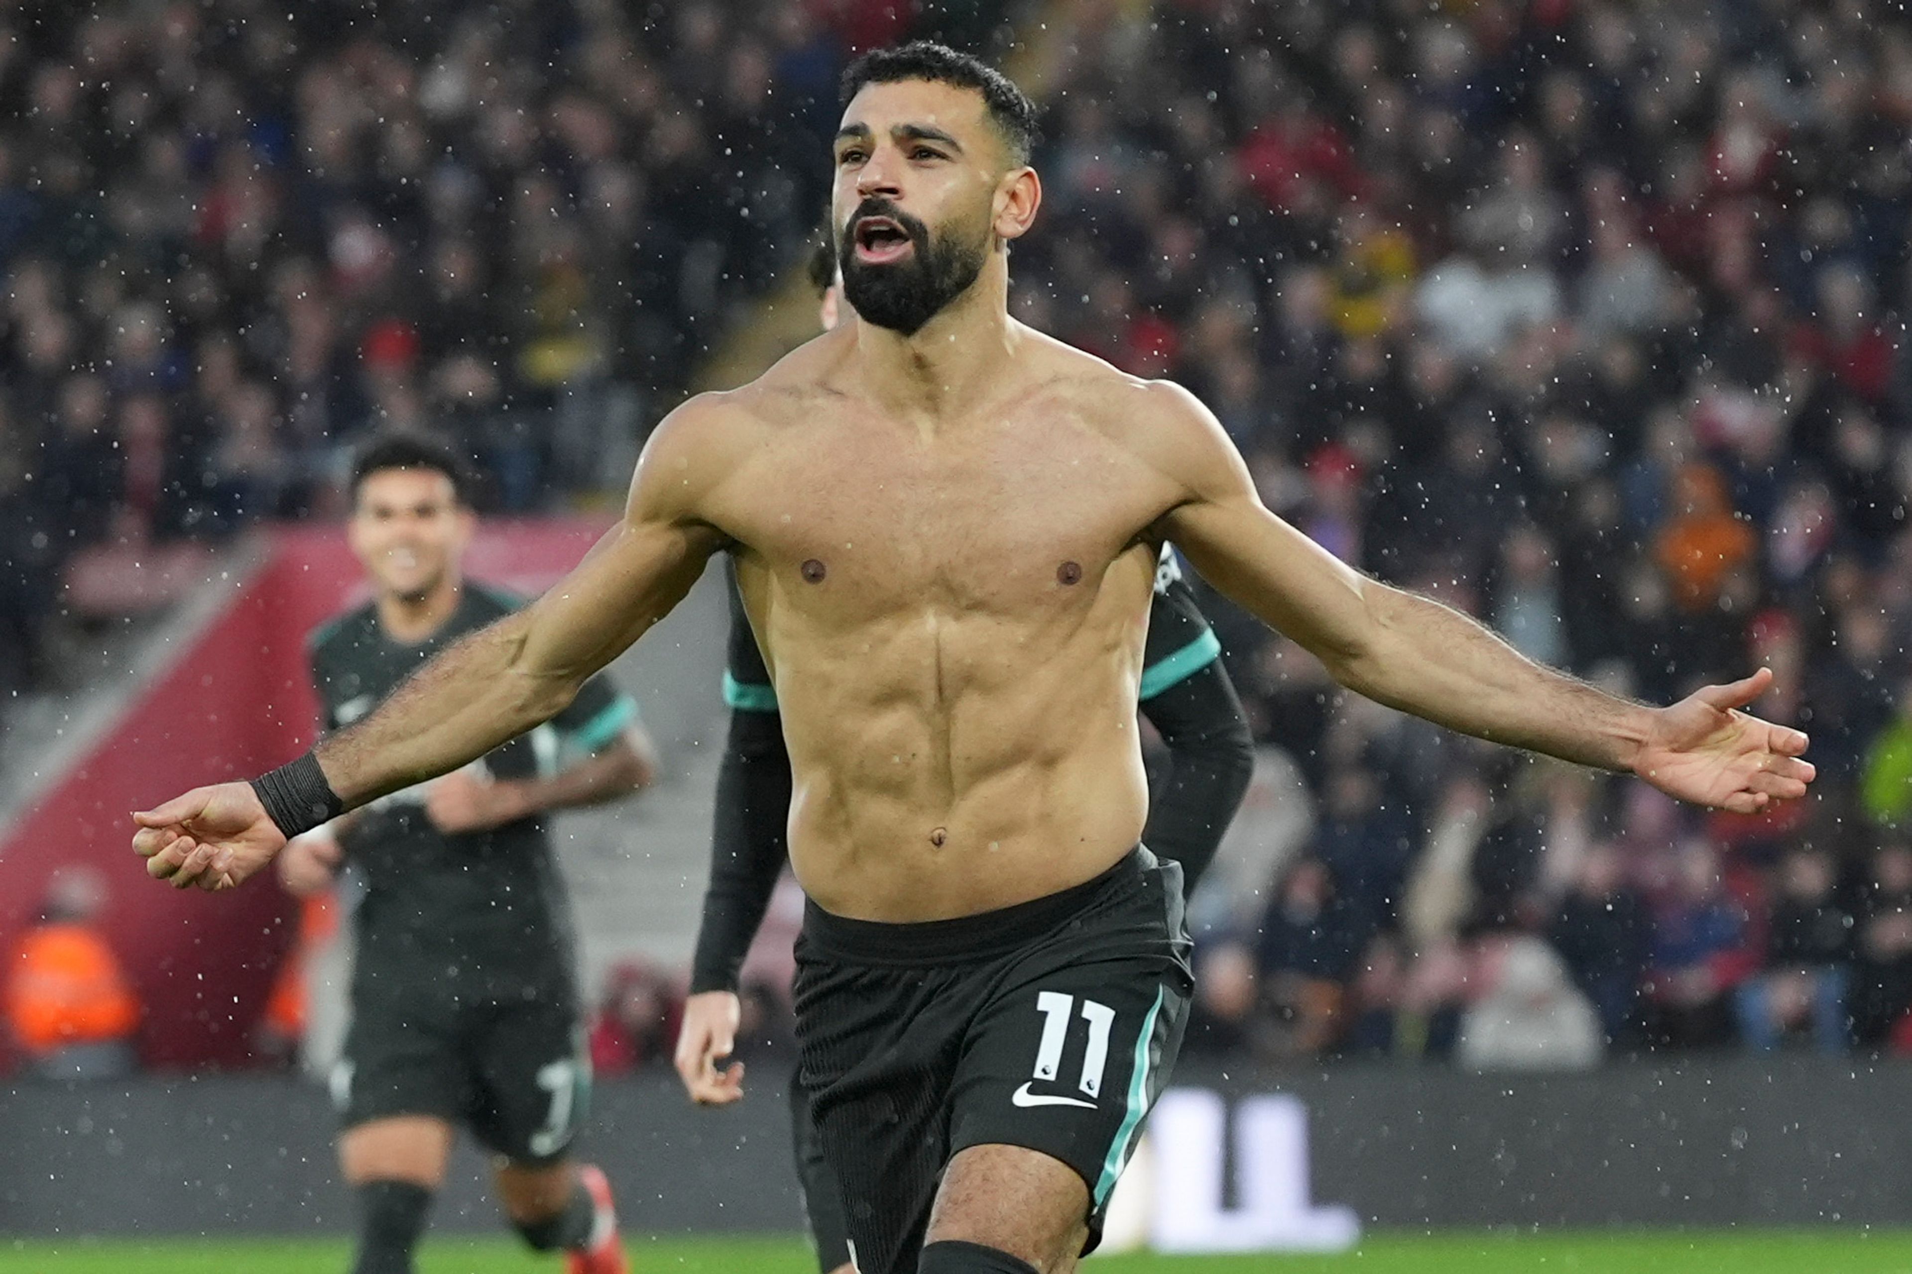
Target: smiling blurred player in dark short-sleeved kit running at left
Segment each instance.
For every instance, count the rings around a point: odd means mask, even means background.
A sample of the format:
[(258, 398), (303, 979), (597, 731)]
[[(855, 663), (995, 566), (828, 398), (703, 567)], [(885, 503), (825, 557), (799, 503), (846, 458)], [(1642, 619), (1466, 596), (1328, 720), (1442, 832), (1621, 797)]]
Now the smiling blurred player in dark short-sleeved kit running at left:
[[(375, 598), (312, 634), (325, 730), (516, 609), (461, 575), (472, 516), (459, 489), (457, 464), (423, 439), (373, 443), (359, 458), (350, 539)], [(461, 1123), (497, 1156), (497, 1194), (532, 1247), (564, 1249), (574, 1274), (625, 1268), (604, 1173), (566, 1157), (591, 1062), (543, 816), (650, 783), (635, 712), (591, 678), (553, 720), (300, 837), (279, 860), (298, 894), (331, 884), (340, 861), (363, 881), (352, 1028), (333, 1072), (340, 1167), (363, 1205), (358, 1274), (413, 1268)]]

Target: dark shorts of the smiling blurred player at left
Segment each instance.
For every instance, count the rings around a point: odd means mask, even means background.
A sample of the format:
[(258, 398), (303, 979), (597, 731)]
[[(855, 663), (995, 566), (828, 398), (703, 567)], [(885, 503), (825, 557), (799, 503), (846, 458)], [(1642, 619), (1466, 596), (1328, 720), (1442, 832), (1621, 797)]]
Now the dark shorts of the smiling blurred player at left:
[(342, 1127), (436, 1115), (535, 1167), (583, 1125), (591, 1052), (568, 1001), (358, 997), (331, 1087)]

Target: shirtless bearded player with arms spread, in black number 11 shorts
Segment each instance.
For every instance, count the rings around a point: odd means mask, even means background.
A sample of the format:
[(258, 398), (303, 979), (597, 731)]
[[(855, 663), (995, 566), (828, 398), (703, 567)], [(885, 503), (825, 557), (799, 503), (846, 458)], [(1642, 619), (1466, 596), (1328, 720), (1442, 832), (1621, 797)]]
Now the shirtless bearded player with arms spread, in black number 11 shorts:
[(1010, 319), (1032, 109), (937, 46), (845, 73), (832, 218), (855, 315), (650, 437), (623, 521), (524, 611), (254, 783), (136, 816), (216, 890), (289, 833), (564, 709), (728, 552), (790, 747), (801, 1081), (862, 1274), (1075, 1268), (1174, 1060), (1182, 871), (1138, 848), (1162, 541), (1356, 691), (1759, 810), (1805, 735), (1604, 695), (1270, 514), (1214, 416)]

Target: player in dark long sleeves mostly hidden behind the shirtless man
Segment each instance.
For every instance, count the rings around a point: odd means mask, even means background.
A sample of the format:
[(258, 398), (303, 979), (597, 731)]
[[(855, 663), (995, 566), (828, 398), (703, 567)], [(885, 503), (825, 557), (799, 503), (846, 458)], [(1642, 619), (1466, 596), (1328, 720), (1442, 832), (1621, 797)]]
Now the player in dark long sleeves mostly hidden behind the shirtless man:
[[(828, 244), (811, 258), (809, 273), (822, 292), (820, 319), (830, 330), (839, 294), (836, 252)], [(717, 772), (711, 875), (690, 968), (690, 999), (677, 1037), (677, 1072), (692, 1100), (709, 1106), (744, 1096), (744, 1066), (738, 1062), (719, 1072), (717, 1064), (736, 1045), (742, 1018), (738, 972), (788, 861), (784, 825), (790, 821), (790, 753), (776, 712), (776, 688), (757, 649), (736, 579), (728, 571), (725, 579), (730, 590), (730, 653), (723, 695), (730, 707), (730, 735)], [(1174, 550), (1164, 546), (1149, 605), (1140, 697), (1141, 714), (1161, 735), (1168, 760), (1141, 839), (1162, 858), (1182, 863), (1185, 888), (1193, 888), (1214, 860), (1254, 770), (1254, 739), (1220, 655), (1222, 644), (1195, 605)], [(843, 1200), (824, 1167), (803, 1085), (795, 1081), (790, 1085), (790, 1121), (818, 1266), (826, 1274), (851, 1274)]]

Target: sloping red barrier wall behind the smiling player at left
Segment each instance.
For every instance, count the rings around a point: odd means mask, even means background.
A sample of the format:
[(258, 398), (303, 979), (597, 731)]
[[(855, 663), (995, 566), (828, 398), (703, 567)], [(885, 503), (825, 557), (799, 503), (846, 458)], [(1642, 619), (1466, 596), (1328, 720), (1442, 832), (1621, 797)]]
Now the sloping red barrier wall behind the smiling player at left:
[[(537, 594), (602, 533), (606, 520), (486, 525), (467, 569)], [(130, 850), (130, 812), (199, 783), (256, 774), (310, 741), (315, 699), (306, 634), (365, 598), (337, 527), (275, 531), (264, 563), (164, 669), (143, 684), (90, 751), (0, 829), (0, 951), (36, 917), (63, 863), (109, 884), (103, 917), (145, 1009), (147, 1066), (245, 1066), (296, 911), (273, 881), (208, 896), (147, 879)]]

